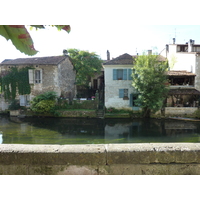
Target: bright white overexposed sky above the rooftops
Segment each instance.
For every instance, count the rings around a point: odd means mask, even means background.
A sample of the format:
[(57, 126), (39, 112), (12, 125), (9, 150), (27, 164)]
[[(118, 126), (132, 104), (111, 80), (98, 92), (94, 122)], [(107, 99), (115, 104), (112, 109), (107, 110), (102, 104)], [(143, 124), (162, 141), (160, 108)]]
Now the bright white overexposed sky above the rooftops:
[[(107, 24), (104, 30), (99, 25), (70, 24), (71, 32), (58, 31), (56, 28), (48, 27), (45, 30), (29, 30), (34, 41), (35, 49), (39, 52), (34, 57), (62, 55), (64, 49), (76, 48), (95, 52), (106, 59), (107, 50), (111, 58), (124, 53), (136, 55), (137, 53), (152, 49), (160, 53), (166, 44), (186, 43), (189, 39), (200, 44), (200, 25), (123, 25), (119, 30), (117, 24)], [(87, 31), (83, 31), (83, 30)], [(24, 58), (27, 55), (18, 51), (5, 38), (0, 36), (0, 62), (4, 59)]]

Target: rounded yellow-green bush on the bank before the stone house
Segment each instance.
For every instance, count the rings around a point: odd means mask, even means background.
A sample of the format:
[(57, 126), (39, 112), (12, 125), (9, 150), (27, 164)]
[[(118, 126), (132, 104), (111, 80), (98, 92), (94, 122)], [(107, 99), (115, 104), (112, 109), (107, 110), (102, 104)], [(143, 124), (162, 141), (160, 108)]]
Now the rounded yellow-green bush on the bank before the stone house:
[(37, 113), (48, 113), (54, 108), (56, 98), (54, 91), (39, 94), (31, 101), (31, 110)]

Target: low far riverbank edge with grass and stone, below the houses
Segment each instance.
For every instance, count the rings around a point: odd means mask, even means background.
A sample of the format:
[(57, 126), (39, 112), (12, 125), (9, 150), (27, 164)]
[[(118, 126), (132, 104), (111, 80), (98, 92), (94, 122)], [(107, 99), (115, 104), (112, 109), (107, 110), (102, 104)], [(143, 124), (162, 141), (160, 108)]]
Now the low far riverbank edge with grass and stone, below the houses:
[[(198, 108), (165, 108), (164, 112), (158, 111), (155, 114), (151, 114), (150, 118), (156, 119), (168, 119), (170, 117), (181, 118), (200, 118), (200, 110)], [(34, 113), (31, 110), (12, 110), (4, 111), (1, 114), (15, 116), (15, 117), (67, 117), (67, 118), (142, 118), (141, 111), (126, 111), (116, 110), (115, 112), (108, 112), (107, 110), (96, 109), (60, 109), (54, 110), (52, 113)]]

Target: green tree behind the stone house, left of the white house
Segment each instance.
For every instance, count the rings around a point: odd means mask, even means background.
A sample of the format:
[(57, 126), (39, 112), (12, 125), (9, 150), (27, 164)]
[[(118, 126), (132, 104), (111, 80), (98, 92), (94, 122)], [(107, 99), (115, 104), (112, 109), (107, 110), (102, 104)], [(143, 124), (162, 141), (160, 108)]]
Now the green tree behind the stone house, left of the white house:
[(100, 73), (102, 60), (94, 52), (78, 49), (68, 49), (67, 51), (76, 70), (76, 84), (87, 87), (90, 78), (94, 77), (95, 73)]

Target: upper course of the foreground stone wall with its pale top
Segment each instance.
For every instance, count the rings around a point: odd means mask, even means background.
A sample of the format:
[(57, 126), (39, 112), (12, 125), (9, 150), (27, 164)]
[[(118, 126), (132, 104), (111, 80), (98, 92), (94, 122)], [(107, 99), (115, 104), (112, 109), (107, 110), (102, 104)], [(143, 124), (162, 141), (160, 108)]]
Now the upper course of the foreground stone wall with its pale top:
[(198, 164), (199, 143), (1, 144), (1, 165)]

